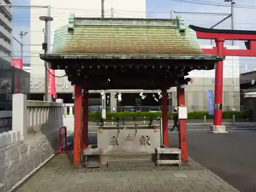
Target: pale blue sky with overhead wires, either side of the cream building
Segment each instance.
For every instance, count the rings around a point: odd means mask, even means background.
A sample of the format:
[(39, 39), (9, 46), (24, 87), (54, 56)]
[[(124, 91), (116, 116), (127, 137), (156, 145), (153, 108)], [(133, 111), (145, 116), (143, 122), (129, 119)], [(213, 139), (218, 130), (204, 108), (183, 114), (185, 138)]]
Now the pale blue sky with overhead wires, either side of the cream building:
[[(119, 0), (120, 1), (120, 0)], [(127, 0), (128, 1), (128, 0)], [(138, 0), (141, 1), (141, 0)], [(254, 8), (234, 8), (234, 29), (238, 30), (256, 30), (255, 14), (256, 1), (255, 0), (234, 0), (239, 6), (254, 6)], [(30, 0), (13, 0), (15, 5), (30, 5)], [(204, 4), (215, 4), (204, 5)], [(216, 5), (221, 6), (216, 6)], [(176, 14), (173, 11), (182, 12), (209, 12), (209, 13), (230, 13), (230, 7), (223, 7), (223, 5), (230, 5), (224, 3), (224, 0), (146, 0), (147, 18), (170, 18), (172, 10), (173, 18)], [(177, 13), (185, 20), (185, 25), (196, 25), (200, 27), (209, 28), (219, 22), (225, 15), (196, 15)], [(13, 8), (13, 35), (19, 38), (20, 31), (29, 32), (24, 37), (24, 44), (30, 44), (30, 26), (29, 26), (30, 12), (29, 8)], [(220, 24), (217, 29), (231, 29), (230, 19)], [(209, 40), (200, 40), (201, 45), (209, 45)], [(230, 42), (227, 42), (227, 45)], [(236, 41), (235, 45), (245, 49), (244, 42)], [(29, 56), (29, 46), (25, 46), (25, 56)], [(13, 42), (14, 54), (20, 56), (20, 46), (17, 42)], [(25, 58), (25, 62), (29, 62), (29, 58)], [(256, 62), (253, 57), (241, 57), (242, 64), (240, 71), (248, 72), (256, 69)], [(246, 67), (247, 66), (247, 67)]]

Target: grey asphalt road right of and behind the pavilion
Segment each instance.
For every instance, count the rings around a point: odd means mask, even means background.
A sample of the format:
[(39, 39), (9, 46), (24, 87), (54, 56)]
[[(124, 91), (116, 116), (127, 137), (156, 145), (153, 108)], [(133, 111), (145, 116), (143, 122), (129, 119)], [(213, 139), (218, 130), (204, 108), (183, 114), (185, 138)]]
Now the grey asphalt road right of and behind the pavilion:
[[(226, 134), (208, 129), (204, 124), (187, 126), (188, 155), (241, 192), (256, 192), (256, 124), (231, 123)], [(178, 141), (178, 132), (169, 132), (169, 146), (179, 147)], [(97, 144), (95, 127), (89, 128), (89, 143)]]

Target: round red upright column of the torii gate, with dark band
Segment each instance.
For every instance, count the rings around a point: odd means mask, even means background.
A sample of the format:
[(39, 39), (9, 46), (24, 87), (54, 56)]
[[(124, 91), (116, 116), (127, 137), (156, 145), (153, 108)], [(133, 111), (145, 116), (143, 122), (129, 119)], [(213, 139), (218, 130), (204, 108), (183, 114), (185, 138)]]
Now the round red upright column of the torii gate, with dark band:
[[(216, 39), (217, 55), (223, 55), (225, 39)], [(217, 62), (215, 70), (214, 125), (222, 125), (223, 61)]]

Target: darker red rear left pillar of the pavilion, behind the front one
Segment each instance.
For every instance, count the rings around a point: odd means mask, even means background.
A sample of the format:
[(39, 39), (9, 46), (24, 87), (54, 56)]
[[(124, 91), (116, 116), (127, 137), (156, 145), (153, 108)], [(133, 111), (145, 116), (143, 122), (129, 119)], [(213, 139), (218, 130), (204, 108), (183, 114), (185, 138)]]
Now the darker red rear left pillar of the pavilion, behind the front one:
[(83, 90), (83, 129), (82, 129), (82, 149), (88, 147), (88, 101), (89, 101), (89, 91)]

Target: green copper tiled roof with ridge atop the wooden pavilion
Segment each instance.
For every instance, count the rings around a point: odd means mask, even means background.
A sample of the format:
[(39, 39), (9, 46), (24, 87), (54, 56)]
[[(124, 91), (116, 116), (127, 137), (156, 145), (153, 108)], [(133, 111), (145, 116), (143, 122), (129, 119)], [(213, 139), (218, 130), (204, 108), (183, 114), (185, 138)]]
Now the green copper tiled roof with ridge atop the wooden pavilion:
[(52, 54), (205, 55), (184, 20), (76, 18), (55, 31)]

